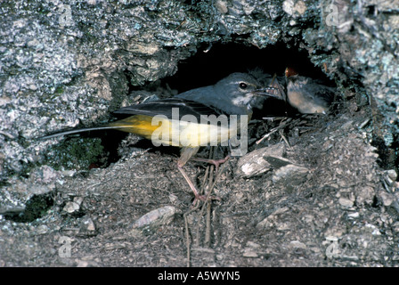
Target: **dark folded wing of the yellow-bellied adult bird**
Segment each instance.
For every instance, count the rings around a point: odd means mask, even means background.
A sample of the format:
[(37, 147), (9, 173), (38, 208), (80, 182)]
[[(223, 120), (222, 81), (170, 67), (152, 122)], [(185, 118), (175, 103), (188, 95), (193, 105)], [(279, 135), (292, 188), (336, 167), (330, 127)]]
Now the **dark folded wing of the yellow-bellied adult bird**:
[[(175, 110), (177, 109), (178, 112)], [(201, 116), (221, 115), (223, 112), (214, 107), (204, 105), (200, 102), (185, 100), (182, 98), (169, 98), (152, 102), (128, 106), (115, 111), (117, 114), (166, 116), (167, 118), (181, 119), (185, 115), (191, 115), (199, 119)]]

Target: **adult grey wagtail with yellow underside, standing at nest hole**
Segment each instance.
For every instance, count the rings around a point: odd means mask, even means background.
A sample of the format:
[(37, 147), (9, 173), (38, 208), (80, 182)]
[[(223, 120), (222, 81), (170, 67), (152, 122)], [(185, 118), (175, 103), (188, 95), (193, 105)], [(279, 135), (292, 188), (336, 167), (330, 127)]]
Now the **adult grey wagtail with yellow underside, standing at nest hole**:
[[(177, 167), (190, 185), (195, 203), (198, 199), (205, 200), (205, 196), (199, 195), (183, 166), (199, 151), (200, 146), (224, 143), (229, 141), (232, 135), (240, 133), (242, 118), (239, 117), (248, 116), (249, 121), (252, 109), (261, 109), (267, 97), (281, 99), (280, 96), (269, 94), (270, 89), (273, 87), (260, 85), (256, 77), (249, 73), (232, 73), (216, 85), (192, 89), (173, 98), (143, 102), (117, 110), (115, 113), (126, 114), (129, 117), (106, 126), (71, 129), (45, 135), (41, 139), (117, 129), (149, 139), (154, 145), (180, 147), (181, 155), (177, 160)], [(232, 126), (237, 126), (237, 130)]]

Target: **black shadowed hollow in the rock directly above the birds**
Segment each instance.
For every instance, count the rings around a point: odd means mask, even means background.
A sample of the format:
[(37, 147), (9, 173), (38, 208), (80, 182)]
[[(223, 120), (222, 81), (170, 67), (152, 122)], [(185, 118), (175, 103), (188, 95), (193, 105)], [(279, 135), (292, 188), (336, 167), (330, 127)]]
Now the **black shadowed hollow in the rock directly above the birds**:
[(242, 44), (216, 43), (199, 47), (195, 55), (180, 62), (175, 76), (167, 77), (163, 82), (182, 93), (192, 88), (213, 85), (233, 72), (247, 72), (248, 69), (260, 68), (265, 73), (282, 76), (288, 66), (303, 76), (328, 80), (322, 70), (309, 60), (307, 51), (288, 48), (287, 44), (259, 49)]

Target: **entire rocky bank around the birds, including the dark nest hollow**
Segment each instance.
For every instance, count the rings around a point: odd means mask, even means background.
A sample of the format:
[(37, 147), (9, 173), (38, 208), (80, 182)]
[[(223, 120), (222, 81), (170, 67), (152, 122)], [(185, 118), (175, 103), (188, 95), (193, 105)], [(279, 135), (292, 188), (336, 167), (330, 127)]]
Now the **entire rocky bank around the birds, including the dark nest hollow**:
[[(0, 265), (398, 265), (395, 1), (0, 8)], [(343, 103), (259, 144), (280, 121), (254, 123), (256, 152), (226, 164), (208, 222), (189, 212), (174, 151), (118, 134), (36, 140), (153, 94), (256, 66), (282, 75), (289, 64), (330, 79)], [(203, 165), (187, 171), (202, 185)]]

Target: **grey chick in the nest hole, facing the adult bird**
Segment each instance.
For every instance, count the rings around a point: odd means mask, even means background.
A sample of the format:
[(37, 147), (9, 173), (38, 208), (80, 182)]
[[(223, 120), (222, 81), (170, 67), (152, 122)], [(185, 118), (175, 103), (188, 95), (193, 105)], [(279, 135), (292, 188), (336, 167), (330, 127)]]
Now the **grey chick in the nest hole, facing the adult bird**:
[(285, 69), (287, 102), (302, 114), (326, 114), (336, 99), (336, 89), (318, 80), (299, 76), (292, 68)]

